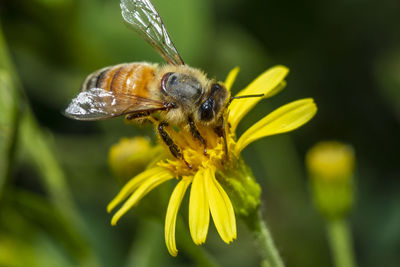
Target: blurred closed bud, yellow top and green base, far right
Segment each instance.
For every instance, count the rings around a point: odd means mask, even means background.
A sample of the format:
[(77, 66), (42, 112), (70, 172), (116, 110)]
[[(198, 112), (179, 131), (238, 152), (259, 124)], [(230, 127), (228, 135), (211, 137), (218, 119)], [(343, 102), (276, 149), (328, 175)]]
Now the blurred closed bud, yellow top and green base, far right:
[(321, 142), (306, 156), (315, 205), (327, 218), (345, 216), (353, 204), (354, 152), (339, 142)]

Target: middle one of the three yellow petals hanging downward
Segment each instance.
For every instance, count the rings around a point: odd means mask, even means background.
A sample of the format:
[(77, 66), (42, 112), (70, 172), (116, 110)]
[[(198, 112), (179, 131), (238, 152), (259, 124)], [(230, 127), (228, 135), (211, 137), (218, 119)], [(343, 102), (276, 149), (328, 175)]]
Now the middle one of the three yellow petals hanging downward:
[(205, 190), (204, 172), (205, 169), (201, 168), (194, 176), (189, 199), (189, 229), (196, 245), (206, 242), (210, 224), (210, 209)]

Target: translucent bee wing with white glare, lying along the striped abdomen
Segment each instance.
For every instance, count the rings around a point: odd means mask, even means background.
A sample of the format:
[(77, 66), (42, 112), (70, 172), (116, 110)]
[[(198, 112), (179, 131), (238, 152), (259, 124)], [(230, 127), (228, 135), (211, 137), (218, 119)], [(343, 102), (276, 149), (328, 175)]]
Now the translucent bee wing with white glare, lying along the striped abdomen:
[(72, 99), (64, 115), (76, 120), (102, 120), (129, 113), (166, 109), (163, 102), (101, 88), (82, 91)]

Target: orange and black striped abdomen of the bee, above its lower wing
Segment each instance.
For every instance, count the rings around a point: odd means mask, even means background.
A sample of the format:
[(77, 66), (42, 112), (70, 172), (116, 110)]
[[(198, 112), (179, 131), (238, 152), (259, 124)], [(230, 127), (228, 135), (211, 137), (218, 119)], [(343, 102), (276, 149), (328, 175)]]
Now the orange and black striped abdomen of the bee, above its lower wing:
[(105, 67), (90, 74), (82, 85), (82, 91), (101, 88), (116, 94), (149, 97), (148, 82), (154, 79), (156, 65), (127, 63)]

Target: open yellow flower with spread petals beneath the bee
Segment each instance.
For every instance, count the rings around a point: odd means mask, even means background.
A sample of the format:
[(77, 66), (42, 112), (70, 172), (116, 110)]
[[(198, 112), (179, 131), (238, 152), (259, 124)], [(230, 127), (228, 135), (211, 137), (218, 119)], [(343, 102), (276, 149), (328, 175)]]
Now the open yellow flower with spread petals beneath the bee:
[[(228, 90), (232, 87), (238, 71), (239, 69), (235, 68), (229, 73), (225, 81)], [(239, 92), (238, 96), (264, 94), (263, 98), (271, 97), (285, 87), (284, 78), (287, 74), (286, 67), (273, 67)], [(250, 143), (262, 137), (292, 131), (300, 127), (309, 121), (317, 111), (311, 98), (291, 102), (268, 114), (237, 139), (235, 135), (237, 125), (261, 99), (262, 97), (233, 100), (226, 110), (224, 116), (227, 121), (228, 155), (225, 153), (223, 138), (208, 126), (198, 126), (200, 134), (207, 143), (206, 153), (204, 153), (203, 144), (194, 139), (189, 129), (183, 128), (179, 131), (170, 129), (168, 134), (181, 148), (186, 162), (168, 157), (133, 177), (107, 207), (110, 212), (127, 199), (114, 214), (111, 224), (115, 225), (121, 216), (153, 188), (177, 178), (179, 182), (170, 197), (165, 218), (165, 241), (169, 253), (172, 256), (176, 256), (178, 253), (175, 243), (176, 218), (189, 186), (191, 186), (189, 229), (194, 243), (200, 245), (206, 241), (210, 215), (224, 242), (230, 243), (236, 239), (235, 212), (246, 215), (250, 209), (257, 208), (260, 195), (260, 188), (254, 182), (250, 170), (243, 163), (240, 152)], [(227, 192), (230, 193), (231, 198)]]

